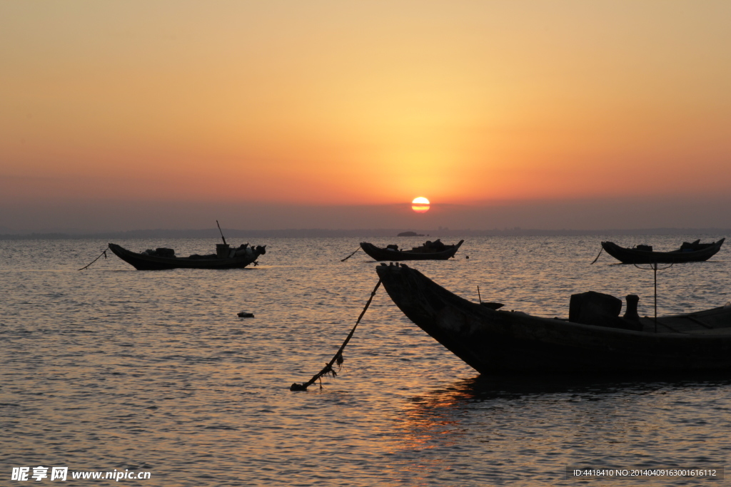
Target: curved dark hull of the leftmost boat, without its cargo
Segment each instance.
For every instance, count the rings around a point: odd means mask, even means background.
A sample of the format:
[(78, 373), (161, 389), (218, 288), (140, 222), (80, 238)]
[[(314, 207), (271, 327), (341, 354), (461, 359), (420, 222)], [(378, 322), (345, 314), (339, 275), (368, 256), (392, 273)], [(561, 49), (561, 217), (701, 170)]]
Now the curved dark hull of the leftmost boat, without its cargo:
[(141, 253), (126, 250), (113, 243), (109, 244), (110, 250), (127, 264), (140, 271), (159, 271), (167, 269), (243, 269), (256, 261), (261, 255), (254, 250), (251, 256), (232, 258), (188, 258), (188, 257), (160, 257), (143, 256)]

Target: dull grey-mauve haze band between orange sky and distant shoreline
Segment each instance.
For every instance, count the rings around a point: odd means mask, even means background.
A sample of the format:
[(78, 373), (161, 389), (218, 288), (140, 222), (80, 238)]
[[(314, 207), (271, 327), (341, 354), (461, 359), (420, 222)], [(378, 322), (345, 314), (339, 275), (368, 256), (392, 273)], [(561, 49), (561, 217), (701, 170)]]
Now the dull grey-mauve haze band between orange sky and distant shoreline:
[[(77, 226), (67, 218), (59, 225), (56, 209), (36, 207), (32, 226), (14, 218), (0, 226), (0, 234), (30, 233), (115, 233), (144, 230), (215, 229), (216, 220), (226, 229), (239, 230), (363, 230), (363, 229), (451, 229), (451, 230), (637, 230), (637, 229), (731, 229), (727, 208), (731, 200), (586, 200), (545, 204), (505, 204), (496, 207), (435, 205), (414, 214), (410, 204), (362, 207), (262, 207), (257, 204), (167, 204), (153, 207), (125, 202), (114, 206), (93, 206), (80, 202), (64, 207), (75, 215)], [(26, 209), (27, 210), (27, 209)], [(658, 215), (670, 213), (666, 218)], [(19, 214), (20, 215), (20, 214)], [(557, 224), (558, 222), (558, 224)]]

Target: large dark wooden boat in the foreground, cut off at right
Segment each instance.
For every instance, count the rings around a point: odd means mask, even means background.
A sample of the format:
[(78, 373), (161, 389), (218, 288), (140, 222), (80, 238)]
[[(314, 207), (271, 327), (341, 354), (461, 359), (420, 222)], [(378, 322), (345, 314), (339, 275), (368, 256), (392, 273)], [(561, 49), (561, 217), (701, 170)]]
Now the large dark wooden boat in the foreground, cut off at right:
[[(411, 321), (483, 374), (731, 369), (730, 305), (657, 318), (656, 325), (652, 318), (612, 321), (602, 313), (594, 319), (591, 306), (569, 320), (540, 318), (497, 310), (498, 303), (469, 302), (405, 264), (376, 270)], [(613, 327), (627, 322), (635, 330)]]

